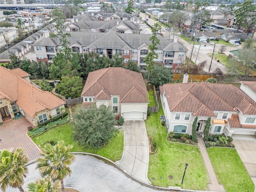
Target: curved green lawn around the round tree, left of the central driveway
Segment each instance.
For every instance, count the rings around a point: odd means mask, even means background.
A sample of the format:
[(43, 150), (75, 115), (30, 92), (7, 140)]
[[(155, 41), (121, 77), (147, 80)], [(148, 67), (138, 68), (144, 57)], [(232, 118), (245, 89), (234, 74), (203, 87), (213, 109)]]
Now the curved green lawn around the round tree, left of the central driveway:
[(103, 148), (99, 150), (92, 150), (79, 146), (72, 138), (72, 122), (56, 126), (47, 130), (44, 134), (32, 138), (37, 144), (42, 144), (47, 140), (63, 140), (65, 145), (72, 144), (72, 152), (88, 152), (104, 156), (112, 161), (120, 160), (124, 148), (124, 133), (119, 131), (112, 140)]

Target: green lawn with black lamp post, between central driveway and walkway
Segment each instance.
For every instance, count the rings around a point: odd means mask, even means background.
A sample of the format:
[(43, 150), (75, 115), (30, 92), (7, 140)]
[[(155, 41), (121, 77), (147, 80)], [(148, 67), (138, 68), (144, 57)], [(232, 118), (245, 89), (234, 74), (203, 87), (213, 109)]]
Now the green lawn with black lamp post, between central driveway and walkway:
[[(208, 190), (208, 174), (198, 146), (167, 142), (166, 126), (160, 124), (162, 106), (158, 113), (152, 113), (146, 120), (147, 133), (158, 142), (156, 154), (150, 154), (148, 178), (156, 186), (180, 186), (186, 189)], [(188, 163), (183, 184), (185, 164)], [(168, 178), (169, 175), (173, 179)], [(162, 179), (160, 179), (162, 177)], [(154, 180), (152, 180), (154, 178)]]

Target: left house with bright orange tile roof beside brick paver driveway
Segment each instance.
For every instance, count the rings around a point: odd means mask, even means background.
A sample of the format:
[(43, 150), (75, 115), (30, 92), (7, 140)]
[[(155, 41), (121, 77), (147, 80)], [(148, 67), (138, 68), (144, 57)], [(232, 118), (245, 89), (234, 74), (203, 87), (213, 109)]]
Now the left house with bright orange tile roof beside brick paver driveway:
[(29, 76), (20, 68), (10, 70), (0, 66), (0, 123), (19, 113), (37, 126), (37, 122), (49, 120), (64, 108), (66, 102), (36, 87)]

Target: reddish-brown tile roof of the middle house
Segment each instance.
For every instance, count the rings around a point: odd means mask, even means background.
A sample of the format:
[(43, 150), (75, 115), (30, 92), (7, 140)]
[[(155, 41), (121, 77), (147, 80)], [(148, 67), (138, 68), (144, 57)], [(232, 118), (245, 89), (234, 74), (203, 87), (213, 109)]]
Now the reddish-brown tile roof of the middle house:
[(81, 96), (94, 96), (94, 100), (110, 100), (112, 95), (120, 96), (120, 103), (149, 102), (141, 73), (110, 67), (88, 74)]

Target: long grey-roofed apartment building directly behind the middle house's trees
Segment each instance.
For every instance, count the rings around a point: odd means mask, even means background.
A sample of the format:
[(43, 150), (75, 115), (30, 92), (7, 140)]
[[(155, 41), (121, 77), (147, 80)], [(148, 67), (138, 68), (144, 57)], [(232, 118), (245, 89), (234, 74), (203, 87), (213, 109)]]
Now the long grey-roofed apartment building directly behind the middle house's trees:
[[(149, 40), (150, 34), (119, 34), (114, 31), (108, 33), (71, 32), (68, 45), (72, 52), (89, 53), (95, 52), (105, 54), (112, 58), (114, 54), (124, 57), (124, 64), (128, 60), (137, 62), (140, 70), (145, 70), (145, 57), (148, 54), (148, 46), (152, 44)], [(158, 58), (155, 62), (163, 63), (164, 66), (172, 68), (184, 64), (187, 49), (180, 44), (175, 36), (173, 40), (167, 40), (158, 36), (160, 44), (157, 45)], [(52, 62), (52, 59), (62, 49), (58, 38), (45, 38), (34, 43), (37, 61)]]

